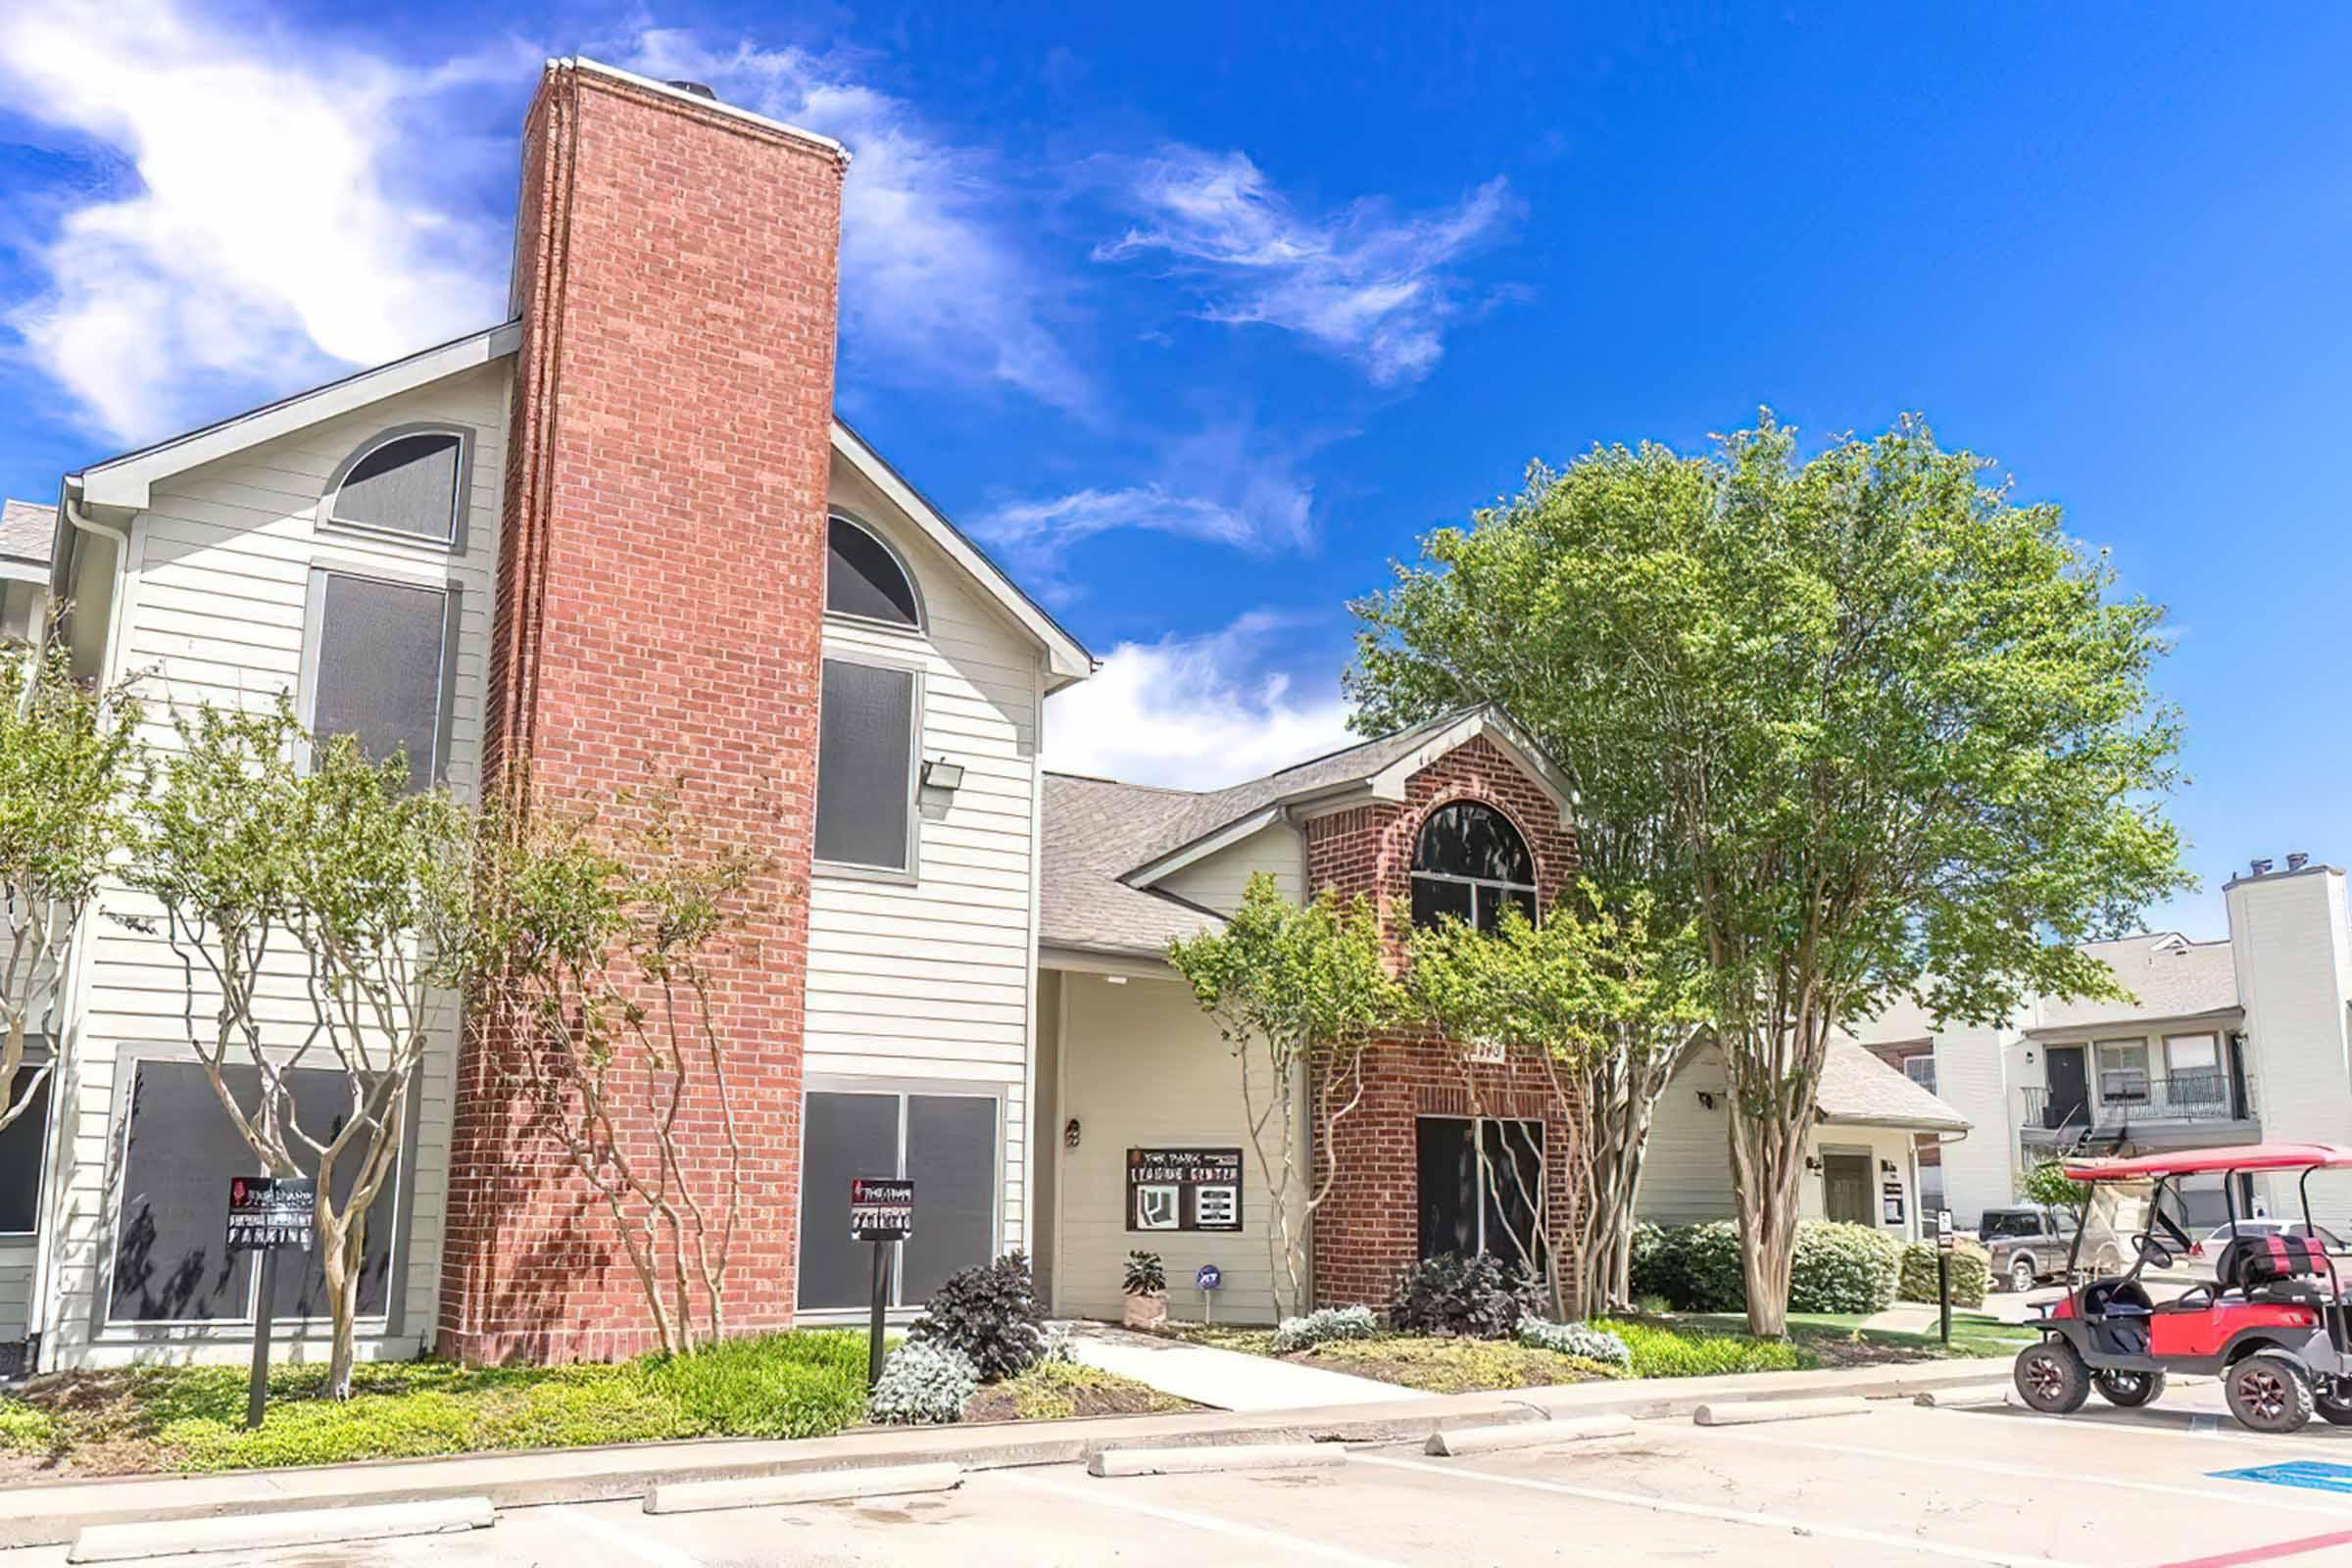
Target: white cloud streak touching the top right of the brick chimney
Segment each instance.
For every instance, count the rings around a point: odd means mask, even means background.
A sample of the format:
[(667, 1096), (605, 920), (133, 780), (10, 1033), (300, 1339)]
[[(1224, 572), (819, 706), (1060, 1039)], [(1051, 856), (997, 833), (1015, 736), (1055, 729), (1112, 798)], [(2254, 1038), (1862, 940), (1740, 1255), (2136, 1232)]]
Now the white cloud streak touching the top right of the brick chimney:
[(807, 49), (649, 28), (630, 68), (708, 82), (722, 99), (849, 146), (842, 322), (861, 374), (1002, 381), (1084, 409), (1089, 378), (1051, 324), (1044, 268), (1023, 252), (995, 160), (936, 134), (913, 106)]

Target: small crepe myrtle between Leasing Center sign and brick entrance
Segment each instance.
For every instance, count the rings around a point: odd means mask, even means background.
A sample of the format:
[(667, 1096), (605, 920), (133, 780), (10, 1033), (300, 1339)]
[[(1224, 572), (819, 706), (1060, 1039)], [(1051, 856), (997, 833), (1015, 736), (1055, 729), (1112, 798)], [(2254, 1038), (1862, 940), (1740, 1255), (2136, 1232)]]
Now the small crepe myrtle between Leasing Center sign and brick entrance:
[(1305, 1237), (1338, 1180), (1331, 1138), (1364, 1103), (1364, 1046), (1411, 1018), (1388, 973), (1381, 917), (1369, 898), (1341, 903), (1329, 889), (1294, 903), (1256, 872), (1223, 929), (1169, 943), (1169, 964), (1242, 1067), (1242, 1119), (1275, 1194), (1272, 1307), (1277, 1319), (1303, 1312)]

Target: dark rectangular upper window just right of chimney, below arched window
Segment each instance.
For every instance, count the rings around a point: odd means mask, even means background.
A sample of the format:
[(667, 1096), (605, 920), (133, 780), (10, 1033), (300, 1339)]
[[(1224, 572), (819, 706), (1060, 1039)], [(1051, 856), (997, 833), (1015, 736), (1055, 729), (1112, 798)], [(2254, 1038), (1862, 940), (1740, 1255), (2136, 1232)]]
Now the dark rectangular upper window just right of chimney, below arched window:
[(816, 741), (816, 858), (908, 870), (915, 675), (826, 661)]

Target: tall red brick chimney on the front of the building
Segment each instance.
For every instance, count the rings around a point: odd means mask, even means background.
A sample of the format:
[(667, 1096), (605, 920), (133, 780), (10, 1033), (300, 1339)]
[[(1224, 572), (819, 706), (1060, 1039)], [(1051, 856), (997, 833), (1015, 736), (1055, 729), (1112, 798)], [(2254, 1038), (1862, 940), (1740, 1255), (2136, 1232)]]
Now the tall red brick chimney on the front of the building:
[[(729, 1328), (793, 1319), (840, 188), (816, 139), (569, 63), (524, 125), (489, 790), (682, 780), (710, 837), (774, 867), (715, 987), (748, 1152)], [(682, 1124), (708, 1182), (715, 1100)], [(609, 1215), (482, 1053), (459, 1079), (437, 1342), (652, 1345)]]

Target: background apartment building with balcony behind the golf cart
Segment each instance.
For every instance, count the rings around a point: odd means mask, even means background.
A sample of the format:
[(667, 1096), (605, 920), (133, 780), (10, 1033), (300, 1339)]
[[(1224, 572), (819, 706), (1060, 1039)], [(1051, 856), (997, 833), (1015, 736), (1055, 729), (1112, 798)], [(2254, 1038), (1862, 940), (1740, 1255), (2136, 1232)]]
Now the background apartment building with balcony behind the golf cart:
[[(2065, 1152), (2234, 1143), (2352, 1143), (2352, 943), (2345, 875), (2288, 856), (2227, 884), (2230, 936), (2176, 931), (2084, 947), (2129, 1001), (2042, 997), (1999, 1027), (1938, 1030), (1893, 1009), (1856, 1030), (1931, 1081), (1976, 1131), (1940, 1147), (1955, 1220), (2016, 1201), (2023, 1168)], [(2187, 1194), (2220, 1220), (2220, 1182)], [(2239, 1211), (2300, 1211), (2286, 1178), (2246, 1178)], [(2312, 1180), (2314, 1211), (2352, 1222), (2352, 1182)]]

